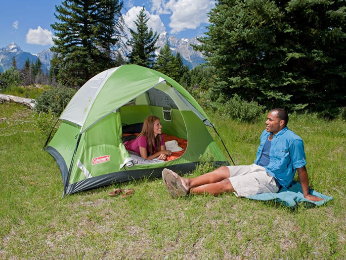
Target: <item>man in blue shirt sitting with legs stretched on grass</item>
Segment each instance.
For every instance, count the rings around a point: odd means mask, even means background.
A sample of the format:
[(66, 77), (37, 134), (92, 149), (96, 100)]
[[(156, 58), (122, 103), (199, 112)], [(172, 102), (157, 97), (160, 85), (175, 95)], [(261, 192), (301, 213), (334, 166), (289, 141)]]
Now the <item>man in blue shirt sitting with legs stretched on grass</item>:
[(224, 192), (247, 197), (288, 188), (297, 170), (304, 198), (321, 201), (323, 199), (308, 192), (303, 140), (287, 128), (287, 123), (288, 114), (284, 109), (275, 108), (269, 112), (256, 160), (251, 165), (222, 166), (192, 179), (164, 169), (164, 183), (173, 197), (204, 193), (217, 196)]

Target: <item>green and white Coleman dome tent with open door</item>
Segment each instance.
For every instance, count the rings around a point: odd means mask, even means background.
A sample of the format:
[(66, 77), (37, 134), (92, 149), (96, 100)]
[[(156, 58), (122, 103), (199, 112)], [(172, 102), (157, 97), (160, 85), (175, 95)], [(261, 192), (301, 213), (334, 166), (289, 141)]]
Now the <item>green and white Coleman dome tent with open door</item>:
[[(149, 115), (160, 118), (166, 134), (187, 140), (182, 156), (133, 165), (121, 140), (122, 125), (144, 122)], [(94, 76), (59, 120), (59, 129), (44, 149), (60, 168), (64, 194), (144, 175), (158, 177), (163, 168), (191, 171), (208, 150), (217, 163), (228, 164), (208, 132), (206, 126), (214, 126), (201, 106), (174, 80), (149, 68), (123, 65)]]

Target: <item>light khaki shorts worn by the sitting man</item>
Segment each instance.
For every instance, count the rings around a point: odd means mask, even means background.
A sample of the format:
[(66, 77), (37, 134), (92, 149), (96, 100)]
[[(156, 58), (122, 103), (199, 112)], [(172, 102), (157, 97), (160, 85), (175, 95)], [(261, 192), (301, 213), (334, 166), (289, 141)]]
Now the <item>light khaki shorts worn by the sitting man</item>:
[(279, 191), (275, 179), (266, 173), (265, 168), (257, 164), (227, 166), (228, 178), (237, 197), (247, 197), (261, 193), (277, 193)]

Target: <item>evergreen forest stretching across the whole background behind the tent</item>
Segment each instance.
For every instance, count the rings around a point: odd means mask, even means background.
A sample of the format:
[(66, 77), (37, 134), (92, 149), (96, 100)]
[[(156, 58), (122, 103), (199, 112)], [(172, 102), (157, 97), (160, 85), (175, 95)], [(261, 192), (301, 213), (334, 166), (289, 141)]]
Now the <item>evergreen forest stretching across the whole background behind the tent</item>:
[[(157, 32), (143, 6), (125, 34), (121, 0), (65, 0), (55, 7), (49, 75), (40, 59), (0, 74), (2, 90), (32, 84), (79, 89), (94, 75), (137, 64), (173, 78), (202, 105), (220, 113), (261, 113), (283, 107), (329, 118), (346, 106), (346, 2), (343, 0), (219, 0), (207, 32), (193, 46), (206, 63), (183, 64), (167, 42), (155, 51)], [(229, 108), (227, 106), (232, 106)], [(239, 112), (238, 107), (248, 107)], [(233, 110), (232, 110), (233, 109)], [(235, 110), (234, 110), (235, 109)], [(249, 110), (250, 109), (250, 110)], [(231, 111), (232, 110), (232, 111)]]

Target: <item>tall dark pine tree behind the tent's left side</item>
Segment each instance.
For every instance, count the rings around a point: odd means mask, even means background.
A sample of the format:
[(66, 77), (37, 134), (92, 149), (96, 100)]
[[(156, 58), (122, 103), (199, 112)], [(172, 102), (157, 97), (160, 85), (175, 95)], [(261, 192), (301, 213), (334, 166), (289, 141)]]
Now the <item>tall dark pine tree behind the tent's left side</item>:
[(65, 0), (55, 6), (58, 22), (52, 68), (64, 85), (82, 86), (97, 73), (113, 67), (123, 30), (119, 0)]

